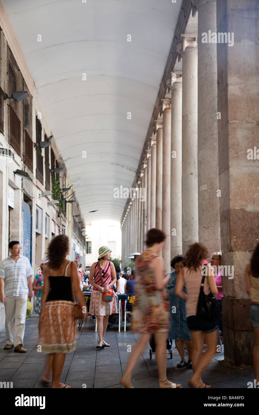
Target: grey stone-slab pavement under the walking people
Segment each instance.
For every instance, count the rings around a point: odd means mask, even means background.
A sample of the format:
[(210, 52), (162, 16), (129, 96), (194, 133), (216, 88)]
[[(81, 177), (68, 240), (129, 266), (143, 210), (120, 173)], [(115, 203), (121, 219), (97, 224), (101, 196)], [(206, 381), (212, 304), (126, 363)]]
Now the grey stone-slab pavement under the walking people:
[[(37, 352), (39, 318), (32, 315), (26, 320), (24, 347), (26, 354), (14, 353), (14, 349), (4, 351), (5, 331), (0, 332), (0, 381), (13, 382), (13, 388), (42, 388), (40, 378), (45, 366), (46, 356)], [(96, 351), (98, 334), (94, 332), (95, 320), (90, 318), (77, 334), (77, 347), (66, 356), (61, 381), (72, 388), (121, 388), (120, 380), (128, 361), (130, 349), (136, 343), (137, 335), (129, 331), (118, 333), (118, 326), (107, 330), (106, 342), (111, 344)], [(222, 347), (224, 349), (224, 347)], [(167, 376), (170, 381), (181, 383), (189, 388), (187, 382), (192, 376), (191, 369), (177, 369), (180, 356), (172, 347), (173, 359), (168, 354)], [(213, 388), (247, 388), (247, 382), (254, 380), (252, 369), (229, 367), (223, 361), (224, 352), (215, 355), (202, 376)], [(158, 372), (155, 355), (150, 360), (149, 346), (146, 348), (133, 374), (135, 388), (158, 388)]]

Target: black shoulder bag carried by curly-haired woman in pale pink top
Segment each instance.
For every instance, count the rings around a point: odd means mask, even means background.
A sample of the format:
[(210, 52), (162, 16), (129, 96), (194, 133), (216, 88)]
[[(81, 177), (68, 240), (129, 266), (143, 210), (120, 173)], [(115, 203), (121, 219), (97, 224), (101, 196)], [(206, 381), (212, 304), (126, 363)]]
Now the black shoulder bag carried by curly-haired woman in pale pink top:
[(205, 275), (202, 276), (196, 315), (204, 320), (217, 320), (219, 317), (217, 300), (212, 293), (208, 295), (204, 293), (204, 281)]

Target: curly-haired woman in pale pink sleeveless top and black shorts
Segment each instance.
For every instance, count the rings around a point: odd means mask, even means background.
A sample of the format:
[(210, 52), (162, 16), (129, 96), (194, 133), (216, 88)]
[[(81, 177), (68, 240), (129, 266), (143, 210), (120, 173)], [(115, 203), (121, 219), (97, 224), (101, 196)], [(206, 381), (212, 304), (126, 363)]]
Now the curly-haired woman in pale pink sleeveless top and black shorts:
[[(186, 300), (185, 308), (187, 325), (190, 330), (193, 342), (193, 376), (189, 381), (190, 385), (193, 388), (211, 388), (210, 385), (202, 382), (201, 375), (210, 363), (217, 349), (217, 322), (203, 320), (201, 317), (196, 315), (197, 303), (200, 294), (200, 285), (202, 282), (202, 265), (204, 265), (204, 260), (208, 256), (208, 251), (204, 245), (198, 242), (190, 245), (185, 255), (186, 266), (180, 272), (175, 287), (175, 293), (179, 295), (180, 298)], [(207, 276), (205, 276), (204, 293), (208, 294), (210, 291), (213, 295), (216, 296), (217, 287), (215, 283), (214, 272), (209, 264), (206, 266), (208, 269)], [(187, 290), (187, 295), (183, 292), (184, 285)], [(208, 349), (205, 354), (202, 354), (204, 337)]]

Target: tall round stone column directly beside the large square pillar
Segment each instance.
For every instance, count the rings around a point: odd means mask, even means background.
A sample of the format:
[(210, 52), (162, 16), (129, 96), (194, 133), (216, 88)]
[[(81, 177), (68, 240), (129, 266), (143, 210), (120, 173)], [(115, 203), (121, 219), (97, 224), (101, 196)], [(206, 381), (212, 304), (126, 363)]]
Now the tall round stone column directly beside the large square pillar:
[(194, 0), (192, 3), (198, 10), (199, 241), (212, 253), (220, 251), (217, 43), (202, 43), (202, 34), (217, 32), (217, 7), (216, 0)]

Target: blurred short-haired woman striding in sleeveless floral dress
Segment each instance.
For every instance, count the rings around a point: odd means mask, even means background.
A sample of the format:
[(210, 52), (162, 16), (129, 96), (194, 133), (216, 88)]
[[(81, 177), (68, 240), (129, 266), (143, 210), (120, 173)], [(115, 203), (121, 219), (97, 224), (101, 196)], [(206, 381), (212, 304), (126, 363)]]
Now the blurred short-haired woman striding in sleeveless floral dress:
[(158, 366), (159, 388), (180, 388), (166, 377), (166, 339), (169, 328), (169, 303), (165, 288), (170, 274), (164, 276), (163, 258), (159, 255), (165, 234), (159, 229), (150, 229), (147, 234), (147, 249), (136, 261), (136, 300), (133, 305), (132, 331), (139, 332), (136, 346), (130, 353), (126, 371), (121, 379), (124, 388), (133, 388), (132, 372), (145, 349), (151, 333), (155, 337), (155, 359)]

